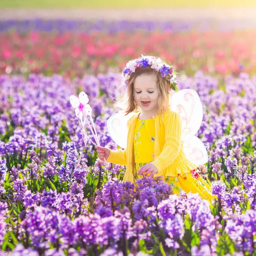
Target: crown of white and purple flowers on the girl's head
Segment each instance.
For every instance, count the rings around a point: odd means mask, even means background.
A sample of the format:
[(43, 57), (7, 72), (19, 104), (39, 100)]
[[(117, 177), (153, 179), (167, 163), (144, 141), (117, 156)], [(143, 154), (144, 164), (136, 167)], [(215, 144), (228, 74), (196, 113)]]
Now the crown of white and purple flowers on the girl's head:
[(167, 65), (164, 61), (160, 58), (156, 58), (153, 56), (143, 56), (141, 55), (140, 58), (135, 60), (131, 60), (126, 64), (126, 67), (122, 70), (122, 77), (125, 79), (125, 87), (128, 87), (129, 78), (131, 73), (135, 72), (138, 67), (147, 67), (150, 66), (155, 70), (161, 73), (162, 77), (166, 76), (166, 81), (169, 84), (169, 87), (176, 92), (177, 90), (177, 83), (176, 83), (176, 74), (179, 74), (173, 71), (173, 67)]

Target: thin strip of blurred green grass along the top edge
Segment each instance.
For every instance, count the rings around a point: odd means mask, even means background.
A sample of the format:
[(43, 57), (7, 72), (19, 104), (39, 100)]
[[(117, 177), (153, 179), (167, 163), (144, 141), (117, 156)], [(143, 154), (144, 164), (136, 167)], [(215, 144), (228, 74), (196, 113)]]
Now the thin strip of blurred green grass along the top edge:
[(230, 7), (256, 6), (256, 0), (0, 0), (3, 8), (85, 8), (85, 9), (133, 9), (180, 7)]

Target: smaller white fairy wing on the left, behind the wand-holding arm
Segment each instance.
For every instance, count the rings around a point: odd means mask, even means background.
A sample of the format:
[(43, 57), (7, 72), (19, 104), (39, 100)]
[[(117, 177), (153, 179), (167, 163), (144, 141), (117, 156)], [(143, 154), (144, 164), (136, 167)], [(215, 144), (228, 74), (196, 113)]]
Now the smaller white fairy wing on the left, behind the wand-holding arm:
[(119, 112), (113, 114), (107, 121), (108, 132), (113, 141), (121, 148), (127, 146), (128, 127), (127, 122), (133, 113), (125, 116), (125, 113)]

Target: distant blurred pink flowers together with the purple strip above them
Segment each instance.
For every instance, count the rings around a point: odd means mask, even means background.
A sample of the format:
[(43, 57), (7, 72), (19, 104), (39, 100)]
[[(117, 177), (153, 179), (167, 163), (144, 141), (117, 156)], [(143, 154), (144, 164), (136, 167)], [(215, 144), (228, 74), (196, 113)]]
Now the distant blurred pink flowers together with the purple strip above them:
[(0, 73), (72, 78), (81, 78), (85, 70), (93, 75), (118, 73), (141, 53), (161, 56), (186, 75), (198, 69), (213, 76), (256, 73), (256, 30), (230, 30), (229, 25), (221, 32), (208, 22), (200, 32), (196, 22), (177, 21), (3, 22)]

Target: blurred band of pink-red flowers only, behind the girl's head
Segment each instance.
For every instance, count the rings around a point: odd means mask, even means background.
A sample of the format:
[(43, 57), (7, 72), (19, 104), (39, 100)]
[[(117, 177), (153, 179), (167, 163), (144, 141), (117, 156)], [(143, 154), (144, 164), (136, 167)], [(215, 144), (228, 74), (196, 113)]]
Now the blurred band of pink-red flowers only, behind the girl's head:
[(256, 42), (251, 38), (256, 38), (255, 31), (1, 33), (0, 73), (6, 73), (3, 66), (12, 66), (11, 73), (18, 74), (21, 67), (31, 66), (30, 61), (39, 73), (44, 73), (46, 66), (47, 72), (64, 76), (81, 76), (86, 70), (91, 74), (113, 72), (113, 67), (121, 72), (129, 60), (141, 53), (173, 63), (175, 70), (185, 74), (198, 69), (211, 74), (235, 74), (241, 67), (253, 73)]

